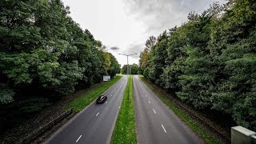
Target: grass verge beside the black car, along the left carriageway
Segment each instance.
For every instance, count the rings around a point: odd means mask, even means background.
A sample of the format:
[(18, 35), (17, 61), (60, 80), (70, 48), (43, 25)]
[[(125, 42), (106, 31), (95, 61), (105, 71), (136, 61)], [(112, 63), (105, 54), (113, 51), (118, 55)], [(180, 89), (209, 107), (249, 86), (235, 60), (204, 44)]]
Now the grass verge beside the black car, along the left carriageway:
[(79, 112), (84, 109), (86, 106), (90, 105), (100, 94), (110, 88), (110, 86), (114, 85), (122, 76), (117, 76), (116, 78), (111, 79), (109, 82), (104, 82), (102, 85), (95, 87), (93, 90), (82, 94), (81, 97), (74, 99), (74, 101), (68, 103), (65, 106), (65, 110), (69, 110), (73, 108), (75, 112)]

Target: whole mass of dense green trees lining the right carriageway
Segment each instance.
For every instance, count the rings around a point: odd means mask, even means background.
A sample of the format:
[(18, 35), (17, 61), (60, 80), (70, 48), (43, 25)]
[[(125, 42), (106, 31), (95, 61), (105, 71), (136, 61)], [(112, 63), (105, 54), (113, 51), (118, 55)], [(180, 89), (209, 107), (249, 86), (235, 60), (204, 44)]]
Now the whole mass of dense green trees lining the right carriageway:
[(146, 78), (199, 110), (256, 130), (256, 2), (214, 3), (190, 13), (140, 56)]

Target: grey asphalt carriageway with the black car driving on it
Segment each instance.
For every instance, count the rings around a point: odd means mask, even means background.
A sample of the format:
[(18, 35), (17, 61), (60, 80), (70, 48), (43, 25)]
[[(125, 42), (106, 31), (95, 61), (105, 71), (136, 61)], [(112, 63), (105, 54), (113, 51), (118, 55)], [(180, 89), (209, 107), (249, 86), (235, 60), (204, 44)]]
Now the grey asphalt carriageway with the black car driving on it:
[(91, 103), (45, 143), (109, 143), (126, 85), (127, 76), (124, 76), (106, 90), (104, 93), (108, 97), (106, 103)]

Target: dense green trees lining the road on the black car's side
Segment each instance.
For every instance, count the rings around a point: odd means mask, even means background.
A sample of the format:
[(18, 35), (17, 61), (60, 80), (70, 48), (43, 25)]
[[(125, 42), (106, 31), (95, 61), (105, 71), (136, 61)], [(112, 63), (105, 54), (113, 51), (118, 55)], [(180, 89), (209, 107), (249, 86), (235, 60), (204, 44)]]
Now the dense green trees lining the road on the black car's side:
[(0, 106), (31, 113), (120, 71), (60, 0), (0, 1)]

